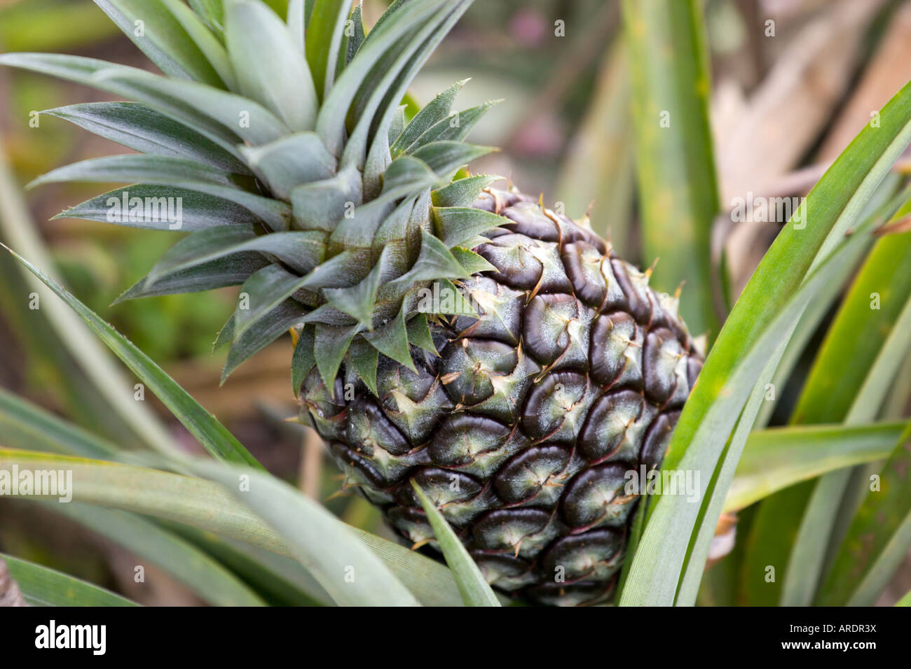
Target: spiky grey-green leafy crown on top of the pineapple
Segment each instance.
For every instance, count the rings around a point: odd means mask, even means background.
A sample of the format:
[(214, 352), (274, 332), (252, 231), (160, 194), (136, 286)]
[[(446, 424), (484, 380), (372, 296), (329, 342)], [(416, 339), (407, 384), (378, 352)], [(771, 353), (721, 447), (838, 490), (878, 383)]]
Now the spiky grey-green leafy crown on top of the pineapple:
[(495, 269), (471, 248), (504, 219), (470, 205), (498, 177), (460, 169), (493, 150), (464, 141), (493, 103), (451, 114), (459, 82), (410, 122), (401, 105), (471, 2), (395, 0), (365, 34), (351, 0), (96, 0), (165, 76), (51, 54), (0, 65), (134, 100), (43, 113), (140, 154), (30, 186), (132, 183), (58, 217), (189, 232), (118, 301), (241, 285), (222, 380), (292, 329), (295, 392), (314, 366), (332, 387), (347, 361), (375, 393), (380, 353), (414, 369), (410, 345), (437, 353), (428, 319), (475, 315), (425, 291)]

